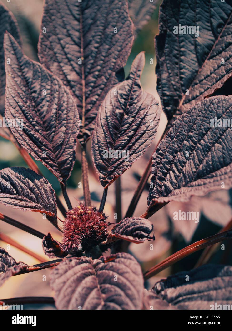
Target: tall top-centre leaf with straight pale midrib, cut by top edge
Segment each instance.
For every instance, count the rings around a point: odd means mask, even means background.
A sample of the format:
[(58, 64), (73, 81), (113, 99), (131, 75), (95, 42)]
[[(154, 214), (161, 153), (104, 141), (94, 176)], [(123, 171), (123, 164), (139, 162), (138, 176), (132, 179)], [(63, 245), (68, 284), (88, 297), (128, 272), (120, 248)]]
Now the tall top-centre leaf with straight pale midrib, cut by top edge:
[(132, 26), (125, 0), (45, 1), (38, 56), (69, 87), (82, 120), (81, 142), (90, 137), (106, 93), (123, 79)]

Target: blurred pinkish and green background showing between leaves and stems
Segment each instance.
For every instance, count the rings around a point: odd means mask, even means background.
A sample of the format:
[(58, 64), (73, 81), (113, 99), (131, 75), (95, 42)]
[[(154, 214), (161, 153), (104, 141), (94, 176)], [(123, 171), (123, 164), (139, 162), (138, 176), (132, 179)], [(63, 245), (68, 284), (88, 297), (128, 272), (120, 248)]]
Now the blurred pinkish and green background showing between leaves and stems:
[[(23, 49), (25, 54), (38, 61), (37, 58), (37, 43), (40, 29), (40, 22), (42, 16), (42, 0), (11, 0), (4, 4), (15, 15), (21, 36), (23, 39)], [(142, 87), (147, 92), (153, 94), (160, 102), (159, 95), (156, 91), (156, 59), (154, 49), (154, 36), (158, 33), (158, 12), (154, 11), (148, 24), (144, 25), (135, 39), (131, 55), (125, 66), (125, 76), (127, 76), (132, 61), (136, 55), (145, 51), (146, 65), (142, 74)], [(151, 61), (153, 60), (153, 63)], [(166, 126), (165, 115), (162, 114), (161, 123), (159, 125), (158, 134), (152, 146), (143, 155), (143, 157), (133, 164), (133, 166), (123, 173), (120, 178), (121, 183), (121, 203), (122, 203), (122, 217), (125, 215), (128, 205), (133, 197), (133, 192), (136, 189), (139, 179), (154, 152), (155, 146), (162, 135)], [(103, 188), (98, 181), (96, 172), (91, 164), (90, 145), (88, 143), (90, 173), (89, 173), (89, 186), (91, 191), (92, 204), (99, 206)], [(56, 193), (60, 196), (61, 201), (65, 204), (62, 195), (60, 194), (60, 185), (55, 176), (43, 166), (40, 162), (36, 162), (43, 175), (52, 184)], [(10, 166), (25, 166), (22, 157), (14, 145), (0, 137), (0, 169)], [(76, 206), (79, 200), (83, 199), (82, 188), (78, 188), (81, 183), (81, 166), (80, 166), (80, 148), (77, 147), (76, 163), (73, 168), (70, 179), (68, 180), (68, 194), (72, 206)], [(80, 186), (80, 185), (79, 185)], [(147, 207), (147, 195), (149, 189), (149, 181), (145, 190), (139, 200), (138, 206), (135, 210), (134, 216), (139, 216), (145, 212)], [(154, 224), (154, 232), (156, 240), (154, 242), (145, 242), (144, 244), (136, 245), (130, 244), (129, 252), (141, 263), (142, 269), (146, 271), (153, 265), (159, 263), (164, 258), (180, 250), (181, 248), (197, 241), (202, 238), (208, 237), (217, 233), (223, 226), (225, 226), (232, 217), (232, 192), (227, 190), (220, 190), (212, 192), (205, 197), (194, 197), (188, 203), (169, 203), (162, 208), (159, 212), (153, 215), (150, 220)], [(174, 221), (173, 212), (178, 210), (186, 211), (199, 211), (200, 222), (194, 221)], [(4, 213), (20, 222), (23, 222), (38, 231), (47, 234), (51, 232), (52, 236), (60, 240), (60, 232), (56, 230), (46, 219), (43, 219), (41, 214), (32, 212), (22, 212), (7, 208), (3, 205), (0, 206), (0, 213)], [(109, 221), (114, 223), (115, 213), (115, 184), (112, 184), (108, 190), (107, 202), (105, 206), (105, 213), (109, 215)], [(63, 216), (58, 212), (58, 216), (63, 219)], [(37, 255), (37, 258), (32, 257), (20, 249), (15, 248), (13, 245), (8, 245), (5, 241), (0, 241), (0, 246), (6, 249), (11, 256), (17, 261), (23, 261), (29, 265), (40, 263), (41, 261), (49, 260), (43, 253), (41, 240), (22, 231), (11, 225), (8, 225), (0, 220), (0, 232), (8, 235), (10, 238), (17, 241), (19, 244), (30, 249)], [(151, 246), (152, 244), (152, 246)], [(231, 264), (232, 258), (230, 242), (224, 242), (225, 250), (217, 249), (210, 262)], [(155, 282), (159, 279), (173, 274), (180, 270), (189, 270), (193, 268), (198, 261), (202, 251), (192, 254), (191, 256), (175, 263), (172, 267), (163, 270), (160, 274), (152, 277), (145, 286), (150, 289), (154, 286)], [(50, 269), (36, 271), (30, 274), (12, 277), (0, 288), (0, 299), (21, 297), (21, 296), (53, 296), (49, 287), (49, 273)], [(29, 306), (25, 306), (24, 308)], [(30, 307), (32, 308), (32, 307)], [(38, 306), (33, 305), (33, 308), (48, 308), (53, 309), (53, 306)]]

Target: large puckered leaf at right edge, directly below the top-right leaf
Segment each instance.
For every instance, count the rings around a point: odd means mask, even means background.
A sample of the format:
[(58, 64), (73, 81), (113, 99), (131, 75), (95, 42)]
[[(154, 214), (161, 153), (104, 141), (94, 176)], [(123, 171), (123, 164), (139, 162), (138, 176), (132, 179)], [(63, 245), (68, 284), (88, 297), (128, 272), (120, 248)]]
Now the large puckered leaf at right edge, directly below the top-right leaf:
[(211, 97), (174, 122), (153, 156), (152, 202), (188, 201), (232, 186), (232, 132), (211, 119), (232, 118), (232, 96)]

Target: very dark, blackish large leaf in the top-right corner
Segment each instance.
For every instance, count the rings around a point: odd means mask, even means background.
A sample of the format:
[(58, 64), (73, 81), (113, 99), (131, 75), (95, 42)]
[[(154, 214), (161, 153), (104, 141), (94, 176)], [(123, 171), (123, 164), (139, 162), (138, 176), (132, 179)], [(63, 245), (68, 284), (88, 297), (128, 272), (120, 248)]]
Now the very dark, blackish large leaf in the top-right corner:
[[(211, 95), (232, 75), (230, 0), (164, 0), (156, 37), (157, 86), (169, 119)], [(175, 26), (199, 27), (174, 34)], [(177, 110), (178, 109), (178, 110)]]

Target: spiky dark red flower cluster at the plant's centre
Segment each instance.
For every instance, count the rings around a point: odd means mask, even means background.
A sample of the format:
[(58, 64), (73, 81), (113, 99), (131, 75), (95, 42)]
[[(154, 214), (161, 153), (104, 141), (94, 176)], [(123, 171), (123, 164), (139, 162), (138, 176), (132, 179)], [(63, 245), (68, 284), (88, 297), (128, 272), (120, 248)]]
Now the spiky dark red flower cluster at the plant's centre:
[(69, 210), (63, 223), (65, 252), (76, 255), (97, 246), (107, 238), (106, 215), (84, 204)]

